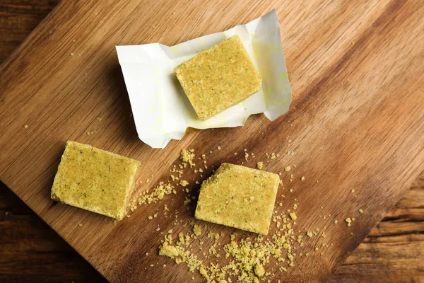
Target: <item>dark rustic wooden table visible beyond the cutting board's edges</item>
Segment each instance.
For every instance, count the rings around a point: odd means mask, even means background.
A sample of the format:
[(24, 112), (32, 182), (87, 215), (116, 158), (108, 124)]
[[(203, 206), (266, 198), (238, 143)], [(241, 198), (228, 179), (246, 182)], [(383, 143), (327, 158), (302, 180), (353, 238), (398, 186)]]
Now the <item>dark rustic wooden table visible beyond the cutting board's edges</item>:
[[(58, 2), (0, 0), (0, 62)], [(0, 183), (0, 282), (105, 279)], [(424, 174), (329, 282), (424, 282)]]

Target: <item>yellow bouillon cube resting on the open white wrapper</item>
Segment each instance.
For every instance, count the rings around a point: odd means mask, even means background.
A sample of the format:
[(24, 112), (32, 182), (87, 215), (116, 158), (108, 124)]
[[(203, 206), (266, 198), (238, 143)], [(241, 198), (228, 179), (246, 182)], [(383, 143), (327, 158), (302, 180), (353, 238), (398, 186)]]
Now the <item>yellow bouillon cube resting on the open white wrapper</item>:
[(240, 103), (261, 88), (261, 75), (238, 35), (174, 69), (200, 120)]

